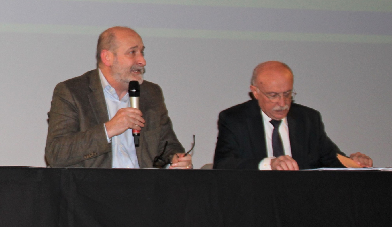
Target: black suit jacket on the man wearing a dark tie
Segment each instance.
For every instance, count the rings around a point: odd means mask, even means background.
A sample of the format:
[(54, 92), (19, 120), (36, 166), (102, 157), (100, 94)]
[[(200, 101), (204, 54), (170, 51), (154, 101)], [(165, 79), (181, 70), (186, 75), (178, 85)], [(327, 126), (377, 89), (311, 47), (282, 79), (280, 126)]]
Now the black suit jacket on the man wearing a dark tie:
[[(300, 169), (343, 167), (343, 154), (327, 136), (318, 111), (292, 103), (287, 114), (292, 157)], [(218, 120), (214, 168), (258, 169), (267, 157), (264, 126), (257, 100), (223, 110)], [(344, 155), (344, 154), (343, 154)]]

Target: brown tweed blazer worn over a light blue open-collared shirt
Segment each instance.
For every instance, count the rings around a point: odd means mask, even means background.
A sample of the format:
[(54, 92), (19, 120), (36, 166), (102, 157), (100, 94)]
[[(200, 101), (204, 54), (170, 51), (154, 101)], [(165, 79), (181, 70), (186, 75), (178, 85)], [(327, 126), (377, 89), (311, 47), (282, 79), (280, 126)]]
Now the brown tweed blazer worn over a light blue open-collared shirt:
[[(151, 168), (166, 141), (166, 157), (184, 148), (172, 129), (160, 86), (143, 81), (140, 91), (146, 123), (136, 154), (140, 168)], [(57, 84), (48, 117), (45, 157), (50, 167), (112, 167), (112, 145), (104, 127), (109, 117), (98, 70)]]

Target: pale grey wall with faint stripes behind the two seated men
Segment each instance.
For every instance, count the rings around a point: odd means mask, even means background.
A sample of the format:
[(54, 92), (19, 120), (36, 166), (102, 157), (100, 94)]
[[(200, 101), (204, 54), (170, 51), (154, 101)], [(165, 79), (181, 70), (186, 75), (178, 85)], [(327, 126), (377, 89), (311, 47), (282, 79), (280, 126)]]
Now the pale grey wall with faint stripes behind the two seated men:
[(162, 86), (185, 149), (196, 135), (196, 168), (212, 162), (218, 113), (249, 100), (252, 70), (266, 60), (292, 68), (296, 102), (321, 112), (343, 152), (363, 152), (376, 167), (390, 167), (391, 3), (2, 3), (0, 165), (45, 166), (54, 86), (94, 69), (98, 35), (120, 25), (142, 36), (145, 79)]

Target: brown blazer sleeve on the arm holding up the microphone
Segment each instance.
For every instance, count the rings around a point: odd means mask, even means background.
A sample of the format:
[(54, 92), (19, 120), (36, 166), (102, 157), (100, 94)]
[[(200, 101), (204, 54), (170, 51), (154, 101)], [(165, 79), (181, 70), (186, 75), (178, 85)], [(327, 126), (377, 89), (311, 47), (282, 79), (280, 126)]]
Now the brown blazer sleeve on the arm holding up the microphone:
[[(76, 101), (64, 82), (53, 92), (48, 113), (45, 156), (51, 167), (111, 167), (98, 156), (111, 151), (104, 124), (98, 124), (89, 106)], [(78, 94), (80, 96), (80, 94)]]

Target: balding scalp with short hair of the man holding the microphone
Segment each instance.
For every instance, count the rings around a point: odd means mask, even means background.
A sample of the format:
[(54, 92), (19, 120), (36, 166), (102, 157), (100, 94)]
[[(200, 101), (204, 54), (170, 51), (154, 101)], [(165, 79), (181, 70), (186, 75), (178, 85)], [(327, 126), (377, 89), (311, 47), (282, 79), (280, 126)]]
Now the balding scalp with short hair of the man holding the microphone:
[(98, 44), (96, 50), (97, 67), (102, 62), (101, 59), (102, 50), (106, 49), (113, 53), (116, 53), (116, 50), (118, 48), (118, 38), (124, 34), (137, 36), (140, 38), (139, 34), (129, 27), (120, 27), (120, 26), (111, 27), (101, 33), (101, 35), (98, 38)]

